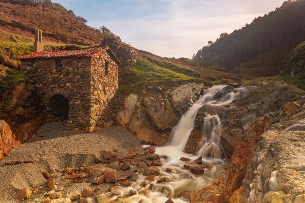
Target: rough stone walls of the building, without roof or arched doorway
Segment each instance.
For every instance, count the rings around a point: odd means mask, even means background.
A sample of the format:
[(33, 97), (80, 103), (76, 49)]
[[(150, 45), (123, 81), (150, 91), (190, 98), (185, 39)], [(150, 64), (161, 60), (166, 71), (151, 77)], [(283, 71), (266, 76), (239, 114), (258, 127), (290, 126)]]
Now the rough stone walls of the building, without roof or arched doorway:
[[(105, 61), (109, 73), (105, 75)], [(69, 120), (66, 129), (93, 131), (108, 101), (118, 88), (118, 68), (106, 52), (92, 57), (32, 59), (21, 61), (21, 72), (38, 89), (48, 121), (57, 121), (50, 113), (50, 99), (62, 95), (69, 102)]]

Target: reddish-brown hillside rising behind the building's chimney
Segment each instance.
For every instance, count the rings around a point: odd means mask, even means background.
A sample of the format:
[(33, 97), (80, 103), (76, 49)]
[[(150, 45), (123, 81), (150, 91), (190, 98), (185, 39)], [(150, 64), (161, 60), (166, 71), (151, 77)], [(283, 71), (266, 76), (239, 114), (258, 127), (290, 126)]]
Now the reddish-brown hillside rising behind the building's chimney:
[(49, 41), (100, 43), (103, 37), (100, 30), (85, 23), (86, 19), (51, 0), (0, 0), (0, 30), (22, 37), (34, 37), (34, 30), (40, 29)]

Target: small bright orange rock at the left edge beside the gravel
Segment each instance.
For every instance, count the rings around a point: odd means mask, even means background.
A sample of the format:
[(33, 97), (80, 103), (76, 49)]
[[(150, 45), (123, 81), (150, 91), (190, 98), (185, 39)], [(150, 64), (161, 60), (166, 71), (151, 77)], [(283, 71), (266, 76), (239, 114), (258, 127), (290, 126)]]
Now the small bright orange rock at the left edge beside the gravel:
[(0, 120), (0, 161), (17, 145), (19, 141), (16, 140), (9, 125)]

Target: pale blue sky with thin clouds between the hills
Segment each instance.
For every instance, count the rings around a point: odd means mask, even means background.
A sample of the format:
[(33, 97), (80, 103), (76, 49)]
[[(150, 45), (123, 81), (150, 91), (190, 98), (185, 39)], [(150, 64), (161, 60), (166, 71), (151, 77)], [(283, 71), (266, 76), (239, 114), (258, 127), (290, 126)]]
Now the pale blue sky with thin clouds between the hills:
[(163, 57), (191, 58), (284, 0), (52, 0), (95, 28), (106, 26), (122, 41)]

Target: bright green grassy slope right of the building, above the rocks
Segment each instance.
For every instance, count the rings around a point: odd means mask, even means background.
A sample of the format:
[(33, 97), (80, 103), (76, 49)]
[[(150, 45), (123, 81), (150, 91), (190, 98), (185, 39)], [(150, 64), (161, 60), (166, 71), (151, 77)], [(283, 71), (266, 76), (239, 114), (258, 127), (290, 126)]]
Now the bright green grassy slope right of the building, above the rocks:
[(120, 89), (123, 90), (143, 82), (176, 81), (198, 78), (187, 69), (175, 66), (166, 68), (164, 66), (165, 65), (162, 64), (153, 64), (152, 62), (139, 57), (133, 67), (124, 69), (119, 73), (125, 80), (123, 85), (120, 85)]

